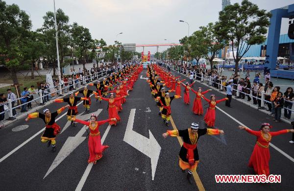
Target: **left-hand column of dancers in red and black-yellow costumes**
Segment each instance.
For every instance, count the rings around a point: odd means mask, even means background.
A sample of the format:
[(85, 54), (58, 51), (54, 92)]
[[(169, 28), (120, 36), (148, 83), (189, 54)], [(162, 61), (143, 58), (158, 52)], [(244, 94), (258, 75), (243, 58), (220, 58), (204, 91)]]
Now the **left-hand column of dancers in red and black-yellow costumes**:
[[(59, 134), (61, 127), (55, 122), (55, 118), (60, 114), (65, 108), (68, 108), (67, 119), (71, 121), (72, 126), (76, 126), (76, 123), (81, 123), (89, 127), (89, 159), (88, 163), (96, 164), (97, 160), (102, 157), (102, 152), (108, 148), (108, 146), (101, 145), (99, 126), (104, 123), (109, 123), (111, 126), (116, 126), (121, 120), (118, 112), (121, 112), (122, 105), (126, 102), (126, 96), (129, 95), (128, 91), (133, 89), (133, 85), (138, 79), (138, 75), (143, 70), (143, 66), (140, 64), (128, 64), (120, 70), (119, 73), (112, 73), (106, 79), (97, 81), (97, 83), (92, 83), (90, 86), (95, 86), (96, 90), (90, 90), (85, 85), (82, 90), (76, 93), (70, 92), (68, 98), (55, 99), (55, 103), (67, 103), (68, 105), (61, 107), (55, 112), (50, 112), (49, 109), (44, 109), (43, 113), (34, 112), (28, 114), (25, 121), (32, 118), (41, 118), (46, 124), (45, 131), (41, 136), (41, 141), (43, 143), (48, 143), (48, 147), (52, 146), (52, 152), (56, 151), (56, 136)], [(110, 93), (109, 98), (107, 98), (108, 93)], [(83, 97), (77, 97), (78, 94), (82, 94)], [(95, 94), (96, 101), (106, 101), (108, 102), (108, 119), (103, 121), (98, 121), (97, 116), (92, 114), (90, 121), (82, 121), (76, 118), (78, 114), (77, 103), (83, 100), (83, 105), (86, 112), (89, 113), (91, 106), (91, 94)]]

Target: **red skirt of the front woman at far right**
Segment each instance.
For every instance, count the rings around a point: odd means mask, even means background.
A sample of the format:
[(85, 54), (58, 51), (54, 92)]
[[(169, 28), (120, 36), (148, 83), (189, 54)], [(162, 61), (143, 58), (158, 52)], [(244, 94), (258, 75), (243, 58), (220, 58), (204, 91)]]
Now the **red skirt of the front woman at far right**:
[(251, 154), (248, 167), (253, 168), (256, 174), (270, 175), (270, 150), (269, 148), (262, 148), (257, 144), (254, 146)]

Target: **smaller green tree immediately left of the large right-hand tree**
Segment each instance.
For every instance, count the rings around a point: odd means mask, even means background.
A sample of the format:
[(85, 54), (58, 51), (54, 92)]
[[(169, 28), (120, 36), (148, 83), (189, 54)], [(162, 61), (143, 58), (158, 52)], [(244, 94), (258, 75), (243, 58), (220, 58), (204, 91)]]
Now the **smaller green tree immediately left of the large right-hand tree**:
[(204, 35), (204, 44), (207, 46), (208, 51), (205, 53), (205, 57), (210, 62), (212, 68), (213, 59), (216, 57), (216, 54), (221, 50), (225, 44), (225, 38), (223, 34), (218, 31), (218, 24), (212, 22), (208, 23), (207, 26), (199, 27), (201, 33)]

